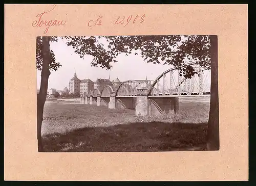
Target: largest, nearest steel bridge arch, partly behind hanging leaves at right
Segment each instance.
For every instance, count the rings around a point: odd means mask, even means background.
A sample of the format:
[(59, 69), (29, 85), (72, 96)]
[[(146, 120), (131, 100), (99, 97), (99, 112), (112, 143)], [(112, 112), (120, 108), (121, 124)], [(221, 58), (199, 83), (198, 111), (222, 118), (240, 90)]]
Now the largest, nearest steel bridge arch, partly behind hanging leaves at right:
[(193, 66), (198, 74), (185, 78), (179, 75), (179, 67), (170, 68), (152, 83), (148, 96), (210, 94), (210, 70), (200, 67), (198, 61), (186, 63), (181, 67), (187, 65)]

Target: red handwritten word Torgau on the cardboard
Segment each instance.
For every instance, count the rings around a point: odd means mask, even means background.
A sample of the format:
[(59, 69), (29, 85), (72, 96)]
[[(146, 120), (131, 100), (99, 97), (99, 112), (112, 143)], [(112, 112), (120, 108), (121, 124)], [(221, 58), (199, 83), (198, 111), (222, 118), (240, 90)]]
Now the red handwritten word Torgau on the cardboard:
[(51, 12), (54, 8), (56, 7), (56, 5), (53, 5), (53, 8), (50, 10), (50, 11), (48, 11), (48, 12), (43, 12), (43, 13), (40, 13), (40, 14), (38, 14), (36, 17), (38, 17), (38, 20), (34, 20), (33, 21), (33, 23), (32, 23), (32, 26), (33, 27), (36, 27), (36, 28), (38, 28), (38, 27), (41, 27), (41, 26), (46, 26), (46, 30), (45, 30), (45, 32), (44, 32), (44, 34), (46, 34), (47, 32), (48, 32), (48, 30), (49, 30), (49, 28), (50, 28), (50, 26), (60, 26), (60, 25), (65, 25), (66, 24), (66, 22), (67, 21), (60, 21), (60, 20), (49, 20), (49, 21), (47, 21), (47, 20), (42, 20), (42, 15), (44, 15), (44, 14), (46, 14), (46, 13), (49, 13), (49, 12)]

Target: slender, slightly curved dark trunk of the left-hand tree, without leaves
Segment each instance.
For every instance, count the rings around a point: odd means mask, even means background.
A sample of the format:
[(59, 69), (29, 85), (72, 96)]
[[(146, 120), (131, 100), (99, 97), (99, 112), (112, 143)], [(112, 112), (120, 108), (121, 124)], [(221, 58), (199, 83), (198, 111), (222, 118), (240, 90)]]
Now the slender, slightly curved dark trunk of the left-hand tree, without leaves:
[(42, 37), (42, 72), (41, 72), (41, 84), (40, 90), (37, 94), (37, 142), (38, 152), (43, 152), (41, 140), (41, 126), (42, 116), (44, 113), (44, 105), (46, 102), (47, 90), (48, 90), (48, 79), (50, 75), (50, 37)]

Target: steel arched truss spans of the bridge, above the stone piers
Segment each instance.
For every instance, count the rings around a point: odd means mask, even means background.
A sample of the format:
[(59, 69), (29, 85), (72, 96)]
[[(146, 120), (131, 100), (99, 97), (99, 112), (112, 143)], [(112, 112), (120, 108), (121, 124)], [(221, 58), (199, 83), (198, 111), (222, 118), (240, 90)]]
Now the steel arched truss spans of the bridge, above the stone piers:
[(116, 97), (137, 97), (137, 89), (147, 89), (149, 97), (175, 97), (186, 95), (203, 95), (210, 94), (210, 70), (200, 67), (198, 62), (184, 64), (191, 65), (197, 74), (191, 78), (185, 78), (179, 75), (180, 69), (177, 67), (170, 68), (160, 74), (155, 81), (145, 80), (127, 80), (119, 86), (113, 88), (104, 86), (101, 90), (90, 90), (88, 97), (110, 97), (114, 93)]

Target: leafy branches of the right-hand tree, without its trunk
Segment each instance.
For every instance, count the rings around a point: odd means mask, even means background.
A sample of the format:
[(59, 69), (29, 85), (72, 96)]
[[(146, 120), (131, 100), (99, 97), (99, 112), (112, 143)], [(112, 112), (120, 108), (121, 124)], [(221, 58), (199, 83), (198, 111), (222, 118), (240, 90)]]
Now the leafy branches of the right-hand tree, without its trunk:
[(187, 78), (197, 73), (191, 65), (182, 67), (187, 62), (210, 68), (208, 36), (109, 36), (106, 40), (113, 56), (139, 52), (147, 63), (173, 65)]

